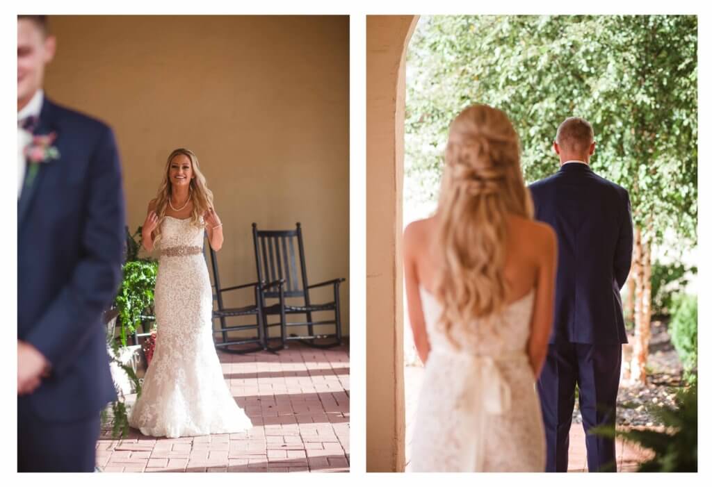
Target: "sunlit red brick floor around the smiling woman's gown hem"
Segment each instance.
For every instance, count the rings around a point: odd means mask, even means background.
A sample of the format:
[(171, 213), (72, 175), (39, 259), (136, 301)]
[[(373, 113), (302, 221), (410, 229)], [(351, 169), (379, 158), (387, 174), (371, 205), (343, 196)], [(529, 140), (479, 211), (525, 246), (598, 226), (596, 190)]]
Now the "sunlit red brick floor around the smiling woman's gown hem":
[[(300, 344), (278, 353), (218, 353), (248, 432), (177, 439), (135, 429), (120, 441), (102, 432), (105, 472), (291, 472), (349, 470), (349, 354)], [(132, 402), (133, 397), (128, 397)]]

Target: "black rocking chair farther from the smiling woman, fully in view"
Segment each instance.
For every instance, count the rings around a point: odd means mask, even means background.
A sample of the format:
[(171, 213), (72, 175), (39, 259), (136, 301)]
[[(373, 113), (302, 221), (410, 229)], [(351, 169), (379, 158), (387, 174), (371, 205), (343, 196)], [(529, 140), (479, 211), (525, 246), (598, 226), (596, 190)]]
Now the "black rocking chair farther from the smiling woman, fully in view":
[[(302, 240), (302, 228), (297, 223), (296, 230), (257, 230), (257, 224), (252, 224), (252, 236), (255, 245), (255, 260), (257, 263), (257, 279), (260, 282), (269, 280), (262, 288), (261, 304), (263, 306), (263, 325), (266, 343), (270, 340), (269, 328), (279, 326), (280, 345), (270, 350), (287, 348), (287, 341), (298, 340), (309, 346), (316, 348), (329, 348), (342, 344), (341, 337), (341, 309), (339, 300), (339, 284), (346, 279), (340, 277), (330, 281), (319, 282), (309, 285), (307, 282), (307, 270), (304, 261), (304, 245)], [(295, 244), (299, 252), (299, 268), (297, 267)], [(299, 287), (298, 275), (301, 277), (301, 288)], [(329, 303), (313, 304), (309, 297), (309, 290), (323, 286), (333, 286), (334, 300)], [(287, 304), (286, 298), (301, 298), (303, 305)], [(278, 299), (275, 304), (268, 305), (267, 299)], [(325, 321), (313, 321), (312, 314), (320, 311), (333, 311), (334, 319)], [(306, 315), (306, 321), (290, 322), (286, 320), (288, 314)], [(279, 323), (268, 323), (269, 315), (279, 315)], [(334, 325), (334, 333), (315, 334), (314, 326)], [(305, 336), (288, 335), (287, 328), (294, 326), (306, 326), (308, 334)], [(327, 339), (326, 343), (317, 340)]]

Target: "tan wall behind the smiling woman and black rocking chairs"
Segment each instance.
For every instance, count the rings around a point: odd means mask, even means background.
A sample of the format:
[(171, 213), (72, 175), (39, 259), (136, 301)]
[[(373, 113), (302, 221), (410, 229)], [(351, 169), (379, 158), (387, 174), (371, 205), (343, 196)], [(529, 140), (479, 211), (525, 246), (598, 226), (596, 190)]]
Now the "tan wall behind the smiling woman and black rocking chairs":
[[(224, 223), (222, 284), (256, 277), (252, 222), (299, 221), (310, 282), (347, 279), (347, 334), (349, 18), (53, 16), (50, 25), (58, 53), (46, 93), (115, 129), (130, 229), (169, 152), (188, 147)], [(326, 299), (328, 290), (313, 297)]]

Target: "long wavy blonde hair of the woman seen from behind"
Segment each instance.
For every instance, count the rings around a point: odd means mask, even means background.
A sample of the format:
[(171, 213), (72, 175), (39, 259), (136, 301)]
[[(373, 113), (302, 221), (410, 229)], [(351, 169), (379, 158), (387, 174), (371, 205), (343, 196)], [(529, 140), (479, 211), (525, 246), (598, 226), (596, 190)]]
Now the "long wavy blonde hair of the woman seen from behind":
[(519, 137), (504, 112), (487, 105), (464, 109), (450, 124), (438, 200), (435, 294), (439, 326), (454, 346), (456, 323), (503, 309), (507, 217), (533, 217), (520, 166)]

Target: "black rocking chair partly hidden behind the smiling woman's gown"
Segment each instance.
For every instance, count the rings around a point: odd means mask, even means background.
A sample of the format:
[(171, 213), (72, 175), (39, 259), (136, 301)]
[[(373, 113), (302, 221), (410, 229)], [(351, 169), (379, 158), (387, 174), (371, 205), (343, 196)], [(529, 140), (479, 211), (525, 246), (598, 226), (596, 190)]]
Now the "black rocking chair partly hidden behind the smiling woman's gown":
[[(240, 286), (232, 287), (220, 287), (220, 275), (218, 272), (218, 261), (216, 252), (210, 247), (209, 243), (207, 245), (210, 250), (210, 261), (211, 267), (213, 269), (213, 301), (217, 301), (217, 308), (213, 307), (213, 319), (220, 320), (220, 328), (213, 329), (213, 338), (215, 342), (215, 347), (219, 350), (230, 353), (250, 353), (259, 350), (266, 349), (266, 339), (263, 334), (263, 314), (261, 313), (261, 291), (263, 284), (261, 282), (250, 282), (248, 284), (241, 284)], [(281, 283), (271, 283), (277, 287)], [(246, 289), (252, 287), (254, 289), (254, 304), (248, 306), (241, 306), (239, 308), (226, 308), (223, 301), (223, 293), (226, 291), (234, 291), (236, 289)], [(234, 318), (236, 316), (254, 316), (256, 323), (248, 325), (232, 325), (228, 326), (226, 324), (226, 319)], [(231, 331), (245, 331), (254, 330), (255, 335), (249, 338), (239, 338), (231, 339), (228, 333)], [(219, 334), (219, 337), (216, 337)], [(245, 345), (254, 343), (254, 346), (243, 347)], [(232, 347), (241, 348), (232, 348)]]

